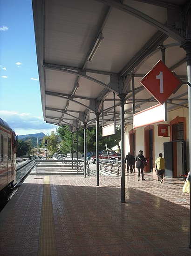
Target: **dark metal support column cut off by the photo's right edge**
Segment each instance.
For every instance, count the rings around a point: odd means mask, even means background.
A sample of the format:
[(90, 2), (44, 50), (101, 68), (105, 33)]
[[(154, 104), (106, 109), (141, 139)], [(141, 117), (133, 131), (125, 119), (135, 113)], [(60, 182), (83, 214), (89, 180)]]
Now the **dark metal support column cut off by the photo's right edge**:
[[(189, 171), (191, 172), (191, 43), (187, 42), (182, 45), (186, 51), (187, 57), (187, 77), (188, 77), (188, 118), (189, 118)], [(191, 176), (189, 178), (191, 184)], [(190, 244), (191, 248), (191, 192), (190, 192)]]

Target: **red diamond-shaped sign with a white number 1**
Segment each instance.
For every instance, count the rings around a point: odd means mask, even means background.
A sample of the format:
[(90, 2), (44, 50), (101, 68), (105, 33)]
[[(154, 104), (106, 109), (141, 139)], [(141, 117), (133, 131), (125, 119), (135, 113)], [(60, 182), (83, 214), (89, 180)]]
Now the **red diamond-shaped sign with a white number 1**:
[(163, 104), (182, 83), (181, 80), (164, 65), (162, 60), (159, 60), (140, 82), (161, 104)]

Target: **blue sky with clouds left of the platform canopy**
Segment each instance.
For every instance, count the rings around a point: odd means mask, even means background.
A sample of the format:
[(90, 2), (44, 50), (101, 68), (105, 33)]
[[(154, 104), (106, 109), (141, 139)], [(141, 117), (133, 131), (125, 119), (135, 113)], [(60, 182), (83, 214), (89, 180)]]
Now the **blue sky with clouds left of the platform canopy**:
[(31, 0), (0, 0), (0, 118), (17, 135), (58, 127), (43, 119)]

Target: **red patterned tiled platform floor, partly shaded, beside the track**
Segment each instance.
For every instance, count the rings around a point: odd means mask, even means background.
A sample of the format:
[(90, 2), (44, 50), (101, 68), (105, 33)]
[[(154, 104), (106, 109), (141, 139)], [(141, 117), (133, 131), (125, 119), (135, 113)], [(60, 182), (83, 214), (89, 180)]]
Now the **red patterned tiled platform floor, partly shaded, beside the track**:
[(190, 256), (183, 179), (30, 175), (0, 212), (1, 256)]

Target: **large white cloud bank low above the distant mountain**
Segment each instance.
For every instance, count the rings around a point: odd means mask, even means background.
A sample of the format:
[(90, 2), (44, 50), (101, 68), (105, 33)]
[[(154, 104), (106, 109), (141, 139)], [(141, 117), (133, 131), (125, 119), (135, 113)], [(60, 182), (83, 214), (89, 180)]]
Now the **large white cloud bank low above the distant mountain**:
[(43, 132), (45, 135), (56, 131), (57, 125), (47, 124), (42, 117), (35, 117), (30, 113), (0, 110), (2, 118), (16, 132), (16, 135), (26, 135)]

